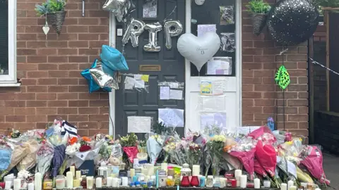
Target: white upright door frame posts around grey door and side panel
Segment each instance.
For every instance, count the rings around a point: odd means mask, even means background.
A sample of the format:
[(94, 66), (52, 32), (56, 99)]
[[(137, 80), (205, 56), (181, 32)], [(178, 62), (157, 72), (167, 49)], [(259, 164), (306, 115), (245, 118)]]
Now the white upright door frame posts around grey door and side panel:
[[(191, 33), (191, 0), (186, 1), (186, 18), (185, 18), (185, 32)], [(206, 2), (207, 3), (207, 2)], [(242, 0), (236, 0), (236, 11), (235, 11), (235, 43), (236, 46), (236, 64), (235, 72), (237, 78), (237, 91), (236, 91), (236, 103), (239, 108), (238, 123), (239, 127), (242, 126)], [(115, 47), (116, 45), (116, 20), (113, 13), (109, 14), (109, 45)], [(185, 86), (191, 78), (191, 63), (185, 59)], [(185, 129), (188, 129), (186, 125), (189, 125), (189, 91), (185, 88)], [(109, 92), (109, 135), (113, 135), (115, 139), (115, 91)]]

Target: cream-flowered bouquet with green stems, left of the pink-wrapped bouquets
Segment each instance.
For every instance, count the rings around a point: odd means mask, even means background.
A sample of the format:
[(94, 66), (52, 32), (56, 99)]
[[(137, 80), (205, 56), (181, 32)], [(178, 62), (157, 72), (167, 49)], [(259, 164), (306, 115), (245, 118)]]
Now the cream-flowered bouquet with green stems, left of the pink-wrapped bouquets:
[(209, 141), (207, 141), (206, 148), (207, 153), (210, 155), (211, 166), (213, 168), (213, 175), (219, 175), (220, 161), (222, 160), (222, 148), (224, 148), (224, 142), (226, 141), (223, 135), (214, 135)]

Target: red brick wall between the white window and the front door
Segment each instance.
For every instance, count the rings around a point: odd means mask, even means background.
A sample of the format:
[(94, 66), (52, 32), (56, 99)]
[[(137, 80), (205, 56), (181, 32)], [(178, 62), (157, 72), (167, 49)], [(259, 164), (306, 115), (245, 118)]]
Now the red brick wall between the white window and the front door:
[[(82, 135), (108, 131), (108, 94), (88, 94), (80, 71), (89, 68), (108, 44), (109, 13), (102, 11), (105, 0), (69, 0), (61, 35), (49, 30), (47, 41), (35, 4), (44, 0), (18, 1), (19, 88), (0, 88), (1, 129), (44, 128), (60, 115), (78, 125)], [(0, 132), (3, 134), (3, 132)]]

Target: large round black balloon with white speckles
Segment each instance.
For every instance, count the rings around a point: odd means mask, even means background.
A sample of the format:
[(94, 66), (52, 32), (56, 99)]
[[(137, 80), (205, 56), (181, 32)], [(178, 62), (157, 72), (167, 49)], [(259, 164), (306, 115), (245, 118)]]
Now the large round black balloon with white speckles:
[(314, 34), (318, 18), (316, 6), (308, 0), (280, 0), (268, 13), (268, 31), (283, 46), (300, 44)]

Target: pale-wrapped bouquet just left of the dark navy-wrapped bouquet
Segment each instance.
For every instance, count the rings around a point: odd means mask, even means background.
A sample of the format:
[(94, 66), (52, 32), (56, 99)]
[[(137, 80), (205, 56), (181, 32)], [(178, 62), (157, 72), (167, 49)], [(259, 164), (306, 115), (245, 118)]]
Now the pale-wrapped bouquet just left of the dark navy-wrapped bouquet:
[(51, 166), (53, 155), (54, 148), (52, 144), (48, 142), (42, 144), (37, 150), (37, 167), (35, 167), (35, 172), (40, 172), (44, 176)]

